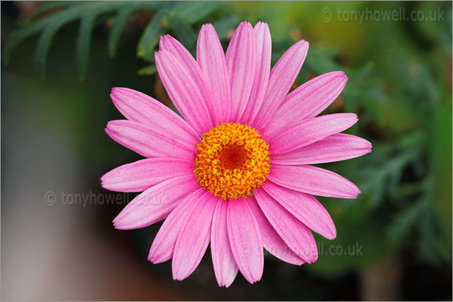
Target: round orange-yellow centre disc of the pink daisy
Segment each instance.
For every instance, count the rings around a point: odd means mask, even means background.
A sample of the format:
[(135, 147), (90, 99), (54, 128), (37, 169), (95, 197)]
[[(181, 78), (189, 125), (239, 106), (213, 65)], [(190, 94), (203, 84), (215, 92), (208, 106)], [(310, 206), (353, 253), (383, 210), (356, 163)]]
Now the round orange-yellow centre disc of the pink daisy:
[(247, 197), (269, 173), (269, 146), (247, 124), (222, 123), (197, 145), (197, 181), (223, 199)]

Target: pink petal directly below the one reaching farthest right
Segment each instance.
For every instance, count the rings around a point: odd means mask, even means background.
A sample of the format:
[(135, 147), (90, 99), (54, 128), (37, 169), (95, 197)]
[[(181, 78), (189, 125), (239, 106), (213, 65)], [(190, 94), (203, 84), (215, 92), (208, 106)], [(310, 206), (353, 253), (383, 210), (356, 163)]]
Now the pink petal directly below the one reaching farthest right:
[(351, 199), (360, 193), (359, 188), (343, 176), (316, 166), (272, 164), (266, 178), (284, 188), (318, 196)]

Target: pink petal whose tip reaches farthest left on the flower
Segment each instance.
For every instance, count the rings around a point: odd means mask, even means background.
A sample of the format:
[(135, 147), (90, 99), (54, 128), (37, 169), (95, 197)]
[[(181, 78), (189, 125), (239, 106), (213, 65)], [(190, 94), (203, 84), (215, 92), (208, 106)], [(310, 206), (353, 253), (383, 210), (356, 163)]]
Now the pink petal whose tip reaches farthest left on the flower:
[(194, 163), (177, 158), (148, 158), (124, 164), (100, 178), (103, 188), (118, 192), (142, 192), (177, 176), (193, 175)]

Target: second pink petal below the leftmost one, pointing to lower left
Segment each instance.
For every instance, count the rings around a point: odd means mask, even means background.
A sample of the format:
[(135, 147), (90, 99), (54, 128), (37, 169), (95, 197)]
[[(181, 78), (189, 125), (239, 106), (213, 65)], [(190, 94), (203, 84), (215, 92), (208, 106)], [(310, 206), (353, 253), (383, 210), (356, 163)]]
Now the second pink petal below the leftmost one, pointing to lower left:
[(188, 215), (188, 211), (194, 206), (195, 202), (199, 201), (205, 194), (206, 189), (199, 188), (181, 200), (180, 204), (171, 211), (152, 242), (150, 254), (148, 255), (149, 261), (161, 263), (171, 259), (175, 249), (176, 238), (181, 225), (183, 225), (185, 216)]

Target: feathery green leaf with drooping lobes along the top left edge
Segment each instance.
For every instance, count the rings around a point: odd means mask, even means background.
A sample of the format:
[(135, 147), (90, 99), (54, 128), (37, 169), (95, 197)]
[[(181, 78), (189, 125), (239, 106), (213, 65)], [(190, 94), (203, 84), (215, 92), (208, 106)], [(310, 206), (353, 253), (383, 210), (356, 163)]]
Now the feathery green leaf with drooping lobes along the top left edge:
[[(8, 63), (14, 49), (34, 34), (41, 34), (34, 55), (34, 70), (44, 77), (48, 51), (58, 30), (70, 22), (79, 20), (76, 60), (80, 79), (84, 79), (88, 67), (88, 56), (93, 29), (100, 22), (115, 16), (108, 38), (108, 53), (114, 57), (122, 29), (129, 18), (138, 11), (152, 10), (154, 15), (140, 38), (137, 54), (152, 62), (159, 37), (173, 32), (188, 48), (195, 49), (196, 34), (192, 25), (216, 11), (223, 3), (204, 1), (50, 1), (39, 6), (29, 21), (21, 25), (8, 37), (3, 52), (4, 63)], [(55, 11), (55, 9), (57, 11)], [(50, 13), (42, 18), (39, 15)], [(230, 28), (232, 28), (231, 23)], [(227, 24), (228, 25), (228, 24)], [(225, 25), (223, 25), (225, 27)], [(141, 71), (140, 73), (147, 74)]]

